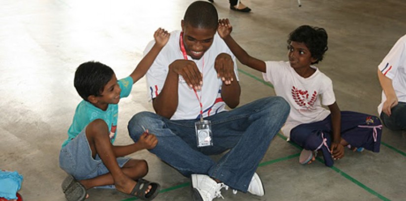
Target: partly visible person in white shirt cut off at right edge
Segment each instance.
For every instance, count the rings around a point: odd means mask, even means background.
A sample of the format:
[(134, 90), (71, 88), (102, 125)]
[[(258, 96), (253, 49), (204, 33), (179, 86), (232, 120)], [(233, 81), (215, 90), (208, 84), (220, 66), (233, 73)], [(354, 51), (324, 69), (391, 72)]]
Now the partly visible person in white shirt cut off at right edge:
[(391, 130), (406, 130), (406, 35), (401, 37), (378, 66), (382, 101), (378, 113)]

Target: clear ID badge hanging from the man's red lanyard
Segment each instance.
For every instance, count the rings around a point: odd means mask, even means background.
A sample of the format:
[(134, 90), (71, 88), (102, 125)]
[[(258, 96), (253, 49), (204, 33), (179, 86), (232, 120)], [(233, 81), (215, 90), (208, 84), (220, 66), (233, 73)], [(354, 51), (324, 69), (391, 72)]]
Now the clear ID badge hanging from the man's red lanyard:
[(213, 146), (212, 124), (210, 121), (198, 121), (194, 123), (196, 129), (197, 147)]

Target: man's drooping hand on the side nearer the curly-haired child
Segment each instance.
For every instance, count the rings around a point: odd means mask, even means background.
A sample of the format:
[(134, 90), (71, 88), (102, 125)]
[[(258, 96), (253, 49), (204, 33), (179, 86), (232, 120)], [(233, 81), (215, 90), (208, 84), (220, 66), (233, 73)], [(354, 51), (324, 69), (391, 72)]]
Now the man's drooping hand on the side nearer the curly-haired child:
[(234, 62), (227, 53), (220, 53), (214, 62), (217, 77), (220, 77), (224, 84), (229, 85), (234, 81)]

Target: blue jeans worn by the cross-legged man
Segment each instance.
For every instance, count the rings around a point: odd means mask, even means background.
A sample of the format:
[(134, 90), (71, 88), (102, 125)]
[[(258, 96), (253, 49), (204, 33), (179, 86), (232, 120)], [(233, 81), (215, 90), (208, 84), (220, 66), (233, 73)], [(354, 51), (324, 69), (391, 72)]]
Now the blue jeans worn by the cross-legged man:
[[(168, 120), (152, 112), (140, 112), (129, 121), (128, 131), (134, 142), (143, 133), (142, 126), (154, 133), (158, 144), (150, 152), (182, 175), (208, 175), (247, 192), (259, 162), (289, 111), (283, 98), (269, 97), (207, 117), (205, 120), (212, 124), (213, 146), (203, 148), (196, 145), (194, 123), (198, 120)], [(230, 151), (217, 162), (208, 156), (227, 150)]]

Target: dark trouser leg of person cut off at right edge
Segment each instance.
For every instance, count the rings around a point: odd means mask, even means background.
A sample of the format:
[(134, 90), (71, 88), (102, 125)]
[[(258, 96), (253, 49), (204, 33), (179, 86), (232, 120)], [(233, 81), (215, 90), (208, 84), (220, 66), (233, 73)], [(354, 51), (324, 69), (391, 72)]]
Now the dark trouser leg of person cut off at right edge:
[(406, 130), (406, 102), (399, 102), (391, 112), (391, 116), (380, 114), (383, 125), (391, 130)]

